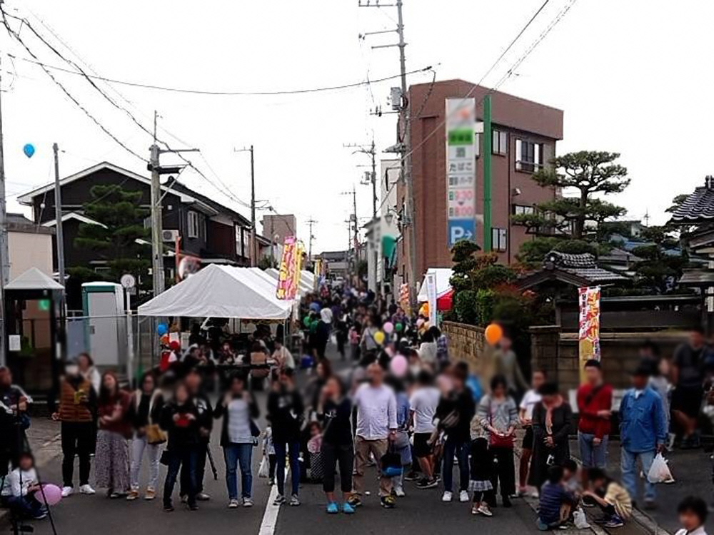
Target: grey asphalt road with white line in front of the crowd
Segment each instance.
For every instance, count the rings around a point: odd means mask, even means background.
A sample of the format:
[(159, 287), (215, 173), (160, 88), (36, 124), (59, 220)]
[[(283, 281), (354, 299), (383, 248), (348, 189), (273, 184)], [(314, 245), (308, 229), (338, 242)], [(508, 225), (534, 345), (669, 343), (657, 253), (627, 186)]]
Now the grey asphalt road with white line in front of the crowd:
[[(333, 359), (334, 360), (334, 359)], [(343, 367), (335, 362), (337, 369)], [(258, 394), (261, 410), (265, 407), (265, 394)], [(472, 516), (470, 504), (455, 501), (441, 502), (442, 489), (420, 490), (413, 482), (407, 481), (407, 496), (398, 499), (397, 506), (385, 510), (379, 506), (377, 497), (378, 481), (376, 472), (368, 472), (368, 490), (364, 504), (353, 516), (344, 514), (328, 515), (325, 512), (326, 499), (321, 485), (305, 484), (301, 487), (299, 507), (282, 506), (273, 509), (269, 499), (271, 487), (266, 479), (253, 477), (253, 498), (255, 506), (249, 509), (227, 509), (226, 484), (223, 479), (225, 469), (223, 454), (218, 447), (218, 429), (212, 440), (213, 457), (218, 468), (218, 481), (214, 481), (210, 470), (206, 469), (204, 486), (211, 494), (211, 501), (201, 502), (198, 511), (188, 511), (177, 506), (173, 513), (161, 508), (161, 499), (128, 502), (124, 499), (108, 499), (101, 489), (95, 496), (74, 496), (64, 499), (55, 506), (53, 517), (59, 534), (101, 534), (119, 535), (127, 532), (169, 534), (169, 533), (235, 533), (260, 535), (288, 534), (431, 534), (464, 533), (467, 530), (488, 529), (499, 534), (536, 533), (535, 514), (522, 500), (515, 500), (512, 509), (495, 509), (492, 519)], [(253, 450), (253, 474), (258, 472), (259, 449)], [(161, 481), (165, 475), (161, 470)], [(44, 481), (61, 481), (61, 457), (49, 462), (41, 470)], [(76, 477), (76, 474), (75, 474)], [(146, 474), (142, 481), (146, 481)], [(161, 486), (161, 484), (160, 484)], [(339, 487), (338, 487), (339, 488)], [(178, 502), (178, 499), (175, 499)], [(178, 505), (178, 503), (177, 503)], [(271, 515), (275, 514), (273, 519)], [(265, 516), (265, 521), (263, 519)], [(52, 533), (49, 520), (34, 522), (37, 535)], [(262, 526), (262, 529), (261, 529)]]

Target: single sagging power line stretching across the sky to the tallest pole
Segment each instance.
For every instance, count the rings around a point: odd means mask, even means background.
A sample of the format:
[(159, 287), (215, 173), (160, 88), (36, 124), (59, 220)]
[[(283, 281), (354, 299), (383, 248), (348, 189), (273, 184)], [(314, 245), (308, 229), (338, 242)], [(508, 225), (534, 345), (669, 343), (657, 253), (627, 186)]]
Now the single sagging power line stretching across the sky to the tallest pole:
[[(9, 15), (9, 16), (13, 16), (13, 15)], [(13, 16), (13, 17), (15, 19), (19, 19), (19, 17), (16, 17), (16, 16)], [(26, 21), (26, 19), (19, 19), (19, 20)], [(10, 55), (10, 54), (8, 54), (8, 55)], [(140, 82), (132, 82), (132, 81), (126, 81), (126, 80), (119, 80), (117, 78), (108, 78), (106, 76), (87, 75), (86, 73), (72, 71), (69, 68), (59, 67), (59, 66), (55, 66), (55, 65), (49, 65), (42, 61), (39, 61), (39, 58), (36, 58), (35, 56), (33, 56), (34, 59), (21, 58), (19, 56), (12, 56), (12, 57), (19, 59), (21, 61), (26, 61), (27, 63), (34, 63), (36, 65), (43, 67), (43, 68), (49, 68), (49, 69), (53, 69), (54, 71), (61, 71), (64, 73), (74, 74), (77, 76), (86, 76), (88, 78), (93, 78), (94, 80), (104, 81), (107, 83), (118, 83), (119, 85), (122, 85), (122, 86), (138, 87), (138, 88), (143, 88), (143, 89), (154, 89), (156, 91), (169, 91), (171, 93), (188, 93), (191, 95), (207, 95), (207, 96), (279, 96), (279, 95), (299, 95), (299, 94), (304, 94), (304, 93), (321, 93), (321, 92), (325, 92), (325, 91), (341, 91), (343, 89), (352, 89), (352, 88), (361, 87), (361, 86), (370, 86), (372, 83), (386, 82), (389, 80), (394, 80), (401, 76), (401, 74), (395, 74), (392, 76), (384, 76), (383, 78), (375, 78), (373, 80), (367, 79), (367, 80), (363, 80), (363, 81), (359, 81), (359, 82), (343, 83), (343, 84), (334, 85), (334, 86), (323, 86), (323, 87), (301, 88), (301, 89), (285, 89), (285, 90), (278, 90), (278, 91), (213, 91), (213, 90), (208, 90), (208, 89), (190, 89), (190, 88), (180, 88), (180, 87), (170, 87), (170, 86), (156, 86), (151, 83), (140, 83)], [(427, 66), (424, 68), (418, 68), (413, 71), (409, 71), (407, 74), (421, 73), (423, 71), (428, 71), (430, 68), (431, 68), (431, 66)]]

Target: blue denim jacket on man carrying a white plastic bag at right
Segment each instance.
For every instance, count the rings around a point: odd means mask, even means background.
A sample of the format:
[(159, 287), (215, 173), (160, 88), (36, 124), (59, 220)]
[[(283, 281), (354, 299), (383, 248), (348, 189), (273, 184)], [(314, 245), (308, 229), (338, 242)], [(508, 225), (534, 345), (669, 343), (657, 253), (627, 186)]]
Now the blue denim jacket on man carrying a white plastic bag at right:
[(667, 441), (667, 419), (660, 394), (644, 389), (635, 398), (635, 389), (625, 392), (620, 403), (620, 443), (628, 452), (654, 452)]

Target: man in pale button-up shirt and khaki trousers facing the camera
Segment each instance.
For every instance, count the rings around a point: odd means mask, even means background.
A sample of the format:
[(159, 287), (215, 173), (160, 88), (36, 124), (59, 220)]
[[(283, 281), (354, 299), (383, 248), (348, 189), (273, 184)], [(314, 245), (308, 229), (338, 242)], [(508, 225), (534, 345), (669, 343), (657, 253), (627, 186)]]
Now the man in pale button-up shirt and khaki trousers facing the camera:
[[(352, 506), (361, 504), (364, 492), (364, 469), (369, 455), (373, 454), (377, 464), (386, 454), (389, 442), (396, 437), (397, 409), (393, 389), (383, 384), (384, 370), (376, 362), (367, 368), (369, 382), (361, 384), (355, 393), (354, 404), (357, 407), (357, 432), (355, 439), (355, 474)], [(392, 479), (381, 475), (379, 478), (379, 496), (386, 509), (392, 509), (394, 498), (391, 496)]]

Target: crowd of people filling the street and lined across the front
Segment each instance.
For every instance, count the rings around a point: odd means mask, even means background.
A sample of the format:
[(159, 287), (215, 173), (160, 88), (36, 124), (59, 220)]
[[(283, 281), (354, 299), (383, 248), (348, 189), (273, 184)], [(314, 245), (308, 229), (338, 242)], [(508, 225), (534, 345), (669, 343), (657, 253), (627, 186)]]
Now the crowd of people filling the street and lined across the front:
[[(514, 497), (528, 494), (539, 500), (539, 529), (574, 521), (582, 507), (599, 507), (603, 524), (613, 529), (632, 515), (640, 465), (648, 474), (677, 430), (682, 447), (699, 444), (696, 420), (708, 366), (700, 332), (671, 362), (655, 345), (643, 346), (618, 409), (618, 481), (606, 472), (613, 387), (598, 360), (585, 363), (574, 429), (573, 409), (558, 385), (546, 370), (532, 370), (528, 381), (508, 335), (476, 374), (450, 355), (436, 325), (393, 301), (323, 289), (305, 301), (301, 317), (297, 358), (282, 330), (259, 326), (238, 345), (220, 327), (207, 337), (194, 328), (190, 346), (183, 352), (172, 346), (169, 358), (133, 391), (113, 372), (100, 374), (89, 355), (67, 362), (53, 414), (61, 422), (62, 496), (75, 492), (79, 457), (80, 494), (95, 494), (94, 465), (96, 486), (111, 499), (161, 496), (164, 510), (174, 511), (178, 483), (181, 501), (196, 510), (211, 499), (203, 480), (207, 462), (214, 464), (213, 426), (220, 425), (231, 509), (254, 504), (253, 456), (259, 452), (259, 475), (276, 485), (276, 506), (299, 506), (301, 483), (320, 481), (328, 514), (354, 514), (367, 495), (368, 468), (376, 466), (386, 509), (406, 495), (406, 481), (414, 481), (419, 491), (441, 487), (441, 501), (469, 502), (473, 514), (486, 518), (499, 501), (509, 508)], [(349, 361), (340, 372), (327, 358), (331, 338)], [(0, 416), (21, 433), (31, 400), (11, 387), (6, 369), (0, 370), (0, 392), (6, 409)], [(262, 429), (261, 414), (267, 422)], [(570, 452), (575, 432), (579, 463)], [(38, 481), (31, 454), (12, 444), (3, 451), (0, 461), (12, 469), (4, 478), (5, 503), (41, 518), (46, 508), (32, 498)], [(149, 475), (142, 483), (144, 463)], [(643, 504), (651, 508), (655, 484), (645, 478), (644, 486)], [(683, 501), (680, 513), (688, 518), (688, 533), (702, 529), (701, 500)]]

